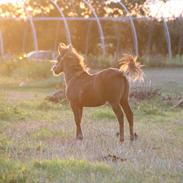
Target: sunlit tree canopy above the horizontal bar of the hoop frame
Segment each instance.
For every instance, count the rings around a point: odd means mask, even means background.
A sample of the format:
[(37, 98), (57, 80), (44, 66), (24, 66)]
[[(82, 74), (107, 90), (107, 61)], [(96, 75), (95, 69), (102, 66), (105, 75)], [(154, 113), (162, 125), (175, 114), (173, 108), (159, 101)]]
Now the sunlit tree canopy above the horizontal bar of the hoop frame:
[[(90, 4), (95, 9), (98, 16), (122, 16), (125, 11), (114, 0), (90, 0)], [(123, 0), (123, 3), (132, 15), (147, 14), (143, 6), (146, 0)], [(92, 16), (91, 10), (83, 0), (57, 0), (65, 16)], [(25, 16), (25, 9), (32, 16), (57, 16), (58, 12), (50, 0), (28, 0), (25, 6), (23, 4), (2, 4), (0, 5), (1, 16), (4, 17), (22, 17)]]

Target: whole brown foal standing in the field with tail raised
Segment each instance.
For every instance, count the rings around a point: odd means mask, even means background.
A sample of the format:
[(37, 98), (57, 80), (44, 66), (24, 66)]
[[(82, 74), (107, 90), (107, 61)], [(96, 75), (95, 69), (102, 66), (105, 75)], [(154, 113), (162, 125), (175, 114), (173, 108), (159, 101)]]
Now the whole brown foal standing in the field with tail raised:
[(133, 80), (143, 77), (141, 65), (136, 62), (136, 58), (125, 55), (120, 60), (120, 69), (109, 68), (96, 74), (89, 74), (83, 57), (71, 45), (61, 44), (58, 51), (59, 56), (52, 70), (55, 74), (64, 73), (66, 96), (76, 123), (76, 138), (83, 139), (83, 107), (97, 107), (108, 102), (119, 122), (120, 142), (124, 141), (123, 111), (129, 123), (130, 139), (134, 140), (136, 134), (133, 132), (133, 112), (128, 102), (129, 82), (124, 73)]

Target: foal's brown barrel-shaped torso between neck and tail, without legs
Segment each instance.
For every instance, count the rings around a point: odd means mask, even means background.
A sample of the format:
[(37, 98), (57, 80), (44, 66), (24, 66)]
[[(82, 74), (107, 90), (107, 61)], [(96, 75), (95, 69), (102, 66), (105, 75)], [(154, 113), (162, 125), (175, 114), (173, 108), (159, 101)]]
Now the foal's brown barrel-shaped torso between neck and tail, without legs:
[(123, 72), (109, 68), (95, 74), (83, 73), (75, 78), (67, 87), (67, 97), (83, 107), (120, 103), (127, 86)]

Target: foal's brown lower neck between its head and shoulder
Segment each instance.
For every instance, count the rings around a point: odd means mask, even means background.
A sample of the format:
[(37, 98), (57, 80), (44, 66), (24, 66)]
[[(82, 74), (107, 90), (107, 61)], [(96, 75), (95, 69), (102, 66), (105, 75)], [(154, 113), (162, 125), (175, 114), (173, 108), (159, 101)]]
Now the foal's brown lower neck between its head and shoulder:
[(70, 67), (64, 69), (65, 82), (68, 84), (72, 79), (79, 77), (81, 74), (88, 72), (84, 70), (82, 67)]

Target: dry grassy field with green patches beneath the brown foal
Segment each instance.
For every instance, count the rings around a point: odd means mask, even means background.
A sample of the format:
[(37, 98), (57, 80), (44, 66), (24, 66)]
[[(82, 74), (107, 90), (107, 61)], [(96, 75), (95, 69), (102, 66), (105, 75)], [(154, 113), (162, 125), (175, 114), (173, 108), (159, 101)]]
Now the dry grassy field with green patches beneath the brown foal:
[(0, 77), (0, 183), (182, 183), (183, 109), (172, 106), (183, 96), (183, 70), (145, 73), (133, 88), (161, 95), (131, 100), (139, 138), (130, 143), (125, 120), (122, 145), (108, 105), (85, 109), (84, 140), (75, 140), (69, 105), (45, 100), (60, 78)]

